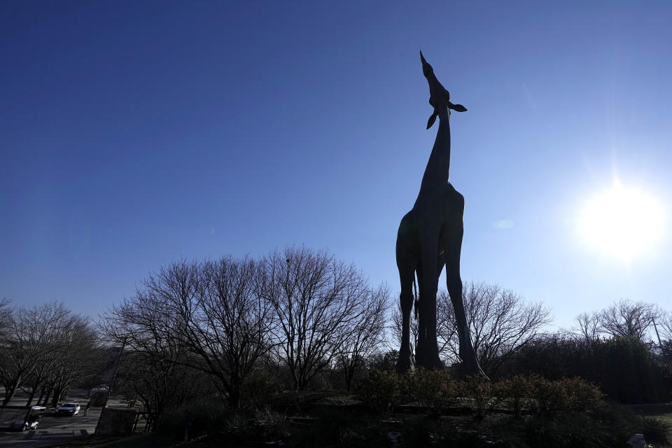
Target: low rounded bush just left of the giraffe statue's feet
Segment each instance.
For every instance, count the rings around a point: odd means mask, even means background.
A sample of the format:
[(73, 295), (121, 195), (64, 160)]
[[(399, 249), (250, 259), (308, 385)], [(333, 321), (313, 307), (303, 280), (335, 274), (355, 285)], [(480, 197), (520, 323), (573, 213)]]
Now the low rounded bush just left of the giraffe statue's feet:
[(390, 414), (407, 393), (405, 377), (394, 372), (370, 372), (361, 381), (356, 396), (378, 414)]

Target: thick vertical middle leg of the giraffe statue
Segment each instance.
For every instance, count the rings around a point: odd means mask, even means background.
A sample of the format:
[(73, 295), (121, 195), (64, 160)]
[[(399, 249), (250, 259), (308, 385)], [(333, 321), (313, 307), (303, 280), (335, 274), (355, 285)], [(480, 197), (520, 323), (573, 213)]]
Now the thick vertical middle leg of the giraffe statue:
[(440, 221), (432, 220), (420, 226), (421, 283), (419, 327), (421, 332), (416, 350), (416, 363), (428, 369), (440, 369), (443, 363), (439, 358), (436, 341), (436, 290), (439, 276), (437, 257), (439, 253)]

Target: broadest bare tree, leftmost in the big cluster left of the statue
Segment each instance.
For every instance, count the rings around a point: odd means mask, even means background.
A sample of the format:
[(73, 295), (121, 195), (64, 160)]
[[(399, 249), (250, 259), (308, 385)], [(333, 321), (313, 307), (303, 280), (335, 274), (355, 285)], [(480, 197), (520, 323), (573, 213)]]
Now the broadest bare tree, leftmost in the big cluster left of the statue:
[[(272, 314), (260, 295), (263, 281), (250, 258), (174, 262), (113, 307), (103, 325), (133, 351), (210, 374), (238, 407), (245, 378), (269, 349)], [(196, 356), (187, 361), (179, 356), (183, 348)]]

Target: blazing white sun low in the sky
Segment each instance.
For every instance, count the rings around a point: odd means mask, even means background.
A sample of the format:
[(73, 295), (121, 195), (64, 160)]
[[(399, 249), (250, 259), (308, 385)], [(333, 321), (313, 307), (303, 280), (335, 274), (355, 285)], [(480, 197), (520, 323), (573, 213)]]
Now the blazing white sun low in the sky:
[(631, 260), (654, 248), (663, 221), (663, 210), (654, 197), (616, 182), (587, 200), (579, 230), (589, 246), (605, 255)]

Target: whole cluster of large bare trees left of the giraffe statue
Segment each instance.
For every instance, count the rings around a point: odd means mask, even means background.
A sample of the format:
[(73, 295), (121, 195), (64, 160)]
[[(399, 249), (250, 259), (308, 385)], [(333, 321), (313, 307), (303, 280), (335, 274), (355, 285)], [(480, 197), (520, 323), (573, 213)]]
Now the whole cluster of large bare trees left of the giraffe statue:
[(337, 364), (350, 385), (384, 341), (389, 298), (353, 265), (287, 248), (261, 260), (174, 262), (111, 308), (102, 325), (116, 344), (157, 366), (150, 370), (198, 370), (238, 407), (259, 370), (305, 390)]

